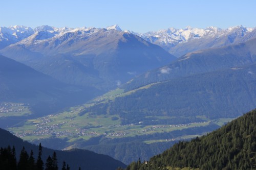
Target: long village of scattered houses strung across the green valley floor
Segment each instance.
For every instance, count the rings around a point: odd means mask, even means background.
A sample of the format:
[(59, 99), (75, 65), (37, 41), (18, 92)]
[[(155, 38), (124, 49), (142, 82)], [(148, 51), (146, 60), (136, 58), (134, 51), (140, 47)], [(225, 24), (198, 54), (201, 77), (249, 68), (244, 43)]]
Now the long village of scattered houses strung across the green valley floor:
[[(137, 124), (127, 124), (127, 125), (99, 125), (95, 124), (94, 121), (84, 122), (82, 125), (76, 122), (76, 116), (74, 114), (80, 112), (81, 109), (76, 109), (71, 111), (73, 116), (67, 117), (65, 121), (59, 122), (57, 120), (58, 115), (48, 115), (46, 117), (41, 117), (39, 119), (35, 119), (33, 122), (30, 122), (30, 127), (32, 129), (27, 129), (24, 131), (19, 131), (15, 133), (18, 137), (26, 137), (26, 136), (100, 136), (104, 135), (106, 137), (124, 137), (124, 136), (132, 136), (133, 134), (147, 134), (155, 132), (168, 132), (177, 129), (185, 129), (188, 127), (196, 127), (196, 126), (204, 126), (209, 122), (197, 122), (197, 123), (188, 123), (188, 124), (177, 124), (177, 125), (155, 125), (155, 126), (142, 126), (143, 122), (139, 122)], [(63, 120), (63, 119), (62, 119)], [(67, 126), (69, 128), (67, 128)], [(63, 129), (63, 127), (66, 127)], [(166, 139), (176, 140), (176, 139)]]

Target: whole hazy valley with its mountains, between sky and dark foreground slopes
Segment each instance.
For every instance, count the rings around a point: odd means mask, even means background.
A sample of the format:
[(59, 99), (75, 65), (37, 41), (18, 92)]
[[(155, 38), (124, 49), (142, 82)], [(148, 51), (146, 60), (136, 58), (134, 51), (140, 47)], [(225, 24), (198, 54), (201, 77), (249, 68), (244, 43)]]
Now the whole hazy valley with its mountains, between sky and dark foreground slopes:
[[(148, 160), (256, 108), (255, 45), (256, 29), (243, 26), (144, 34), (117, 25), (1, 27), (0, 127), (71, 155), (109, 155), (118, 160), (113, 167), (124, 168), (121, 162)], [(192, 144), (175, 144), (150, 164), (213, 167), (165, 160), (168, 152), (185, 152), (179, 145), (190, 151)], [(165, 165), (155, 165), (160, 158)], [(135, 166), (146, 168), (138, 161), (127, 169)]]

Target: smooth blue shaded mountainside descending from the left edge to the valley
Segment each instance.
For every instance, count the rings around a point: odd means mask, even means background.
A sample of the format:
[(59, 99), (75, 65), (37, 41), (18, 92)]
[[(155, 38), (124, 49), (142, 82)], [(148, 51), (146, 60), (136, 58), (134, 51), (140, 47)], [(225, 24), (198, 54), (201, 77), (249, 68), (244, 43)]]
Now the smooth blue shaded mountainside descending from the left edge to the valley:
[[(88, 87), (64, 84), (12, 59), (0, 56), (0, 102), (29, 104), (34, 116), (86, 102), (96, 94)], [(1, 126), (7, 124), (1, 118)]]

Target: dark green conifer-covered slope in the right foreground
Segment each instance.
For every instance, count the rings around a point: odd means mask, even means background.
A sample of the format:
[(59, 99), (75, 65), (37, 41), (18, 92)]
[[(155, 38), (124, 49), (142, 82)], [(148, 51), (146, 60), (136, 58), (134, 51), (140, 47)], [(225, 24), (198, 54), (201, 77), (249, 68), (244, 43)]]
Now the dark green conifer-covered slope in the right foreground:
[(206, 136), (174, 144), (148, 162), (133, 162), (126, 170), (169, 167), (256, 169), (256, 110)]

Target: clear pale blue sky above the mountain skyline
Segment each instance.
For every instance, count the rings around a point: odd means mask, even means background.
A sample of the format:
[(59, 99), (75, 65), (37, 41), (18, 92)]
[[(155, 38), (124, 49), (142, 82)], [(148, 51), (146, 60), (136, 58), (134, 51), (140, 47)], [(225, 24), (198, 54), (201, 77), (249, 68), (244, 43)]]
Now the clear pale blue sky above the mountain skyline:
[(0, 6), (0, 26), (105, 28), (144, 33), (160, 29), (256, 27), (254, 0), (8, 0)]

